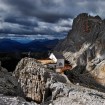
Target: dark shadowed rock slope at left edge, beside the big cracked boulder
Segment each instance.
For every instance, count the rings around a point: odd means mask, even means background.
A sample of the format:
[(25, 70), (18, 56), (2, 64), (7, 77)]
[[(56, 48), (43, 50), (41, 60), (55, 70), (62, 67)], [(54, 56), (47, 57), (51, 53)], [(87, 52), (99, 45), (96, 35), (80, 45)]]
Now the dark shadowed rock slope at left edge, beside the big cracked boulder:
[(0, 94), (20, 95), (20, 96), (23, 95), (17, 79), (12, 76), (12, 73), (8, 72), (5, 68), (1, 66), (1, 62), (0, 62)]

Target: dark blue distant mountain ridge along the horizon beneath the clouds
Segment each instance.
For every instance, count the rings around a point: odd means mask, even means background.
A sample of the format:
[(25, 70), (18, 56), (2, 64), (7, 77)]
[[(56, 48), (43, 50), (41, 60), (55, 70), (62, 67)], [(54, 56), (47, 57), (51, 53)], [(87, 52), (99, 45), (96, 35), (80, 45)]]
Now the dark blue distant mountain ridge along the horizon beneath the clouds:
[(33, 40), (29, 43), (20, 43), (11, 39), (0, 40), (0, 52), (39, 52), (48, 51), (55, 47), (58, 39), (54, 40)]

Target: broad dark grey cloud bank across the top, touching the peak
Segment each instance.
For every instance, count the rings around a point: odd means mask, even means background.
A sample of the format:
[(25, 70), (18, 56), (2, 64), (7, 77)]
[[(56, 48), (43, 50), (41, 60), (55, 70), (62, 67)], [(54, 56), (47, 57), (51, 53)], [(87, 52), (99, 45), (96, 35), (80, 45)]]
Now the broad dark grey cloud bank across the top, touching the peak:
[[(103, 0), (4, 0), (22, 15), (55, 22), (60, 18), (73, 18), (81, 12), (97, 13)], [(101, 2), (101, 3), (100, 3)], [(100, 6), (98, 6), (100, 5)]]

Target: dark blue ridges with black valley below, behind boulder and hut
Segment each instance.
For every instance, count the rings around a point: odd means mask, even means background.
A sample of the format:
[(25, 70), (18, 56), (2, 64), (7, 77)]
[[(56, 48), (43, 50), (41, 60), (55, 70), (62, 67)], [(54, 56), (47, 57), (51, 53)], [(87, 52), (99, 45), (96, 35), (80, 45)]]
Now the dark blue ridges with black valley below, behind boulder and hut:
[[(29, 43), (19, 43), (15, 40), (0, 40), (0, 61), (2, 66), (9, 71), (14, 71), (17, 63), (24, 57), (35, 59), (48, 58), (51, 51), (59, 40), (34, 40)], [(30, 55), (29, 55), (30, 53)]]

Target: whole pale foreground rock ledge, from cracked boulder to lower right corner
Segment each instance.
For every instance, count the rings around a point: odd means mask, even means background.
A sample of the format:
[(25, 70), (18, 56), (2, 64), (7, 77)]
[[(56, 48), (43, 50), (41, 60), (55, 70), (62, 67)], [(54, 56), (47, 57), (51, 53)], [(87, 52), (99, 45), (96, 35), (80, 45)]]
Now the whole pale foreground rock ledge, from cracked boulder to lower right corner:
[(26, 99), (41, 105), (104, 105), (105, 93), (72, 84), (64, 74), (33, 58), (23, 58), (14, 71)]

